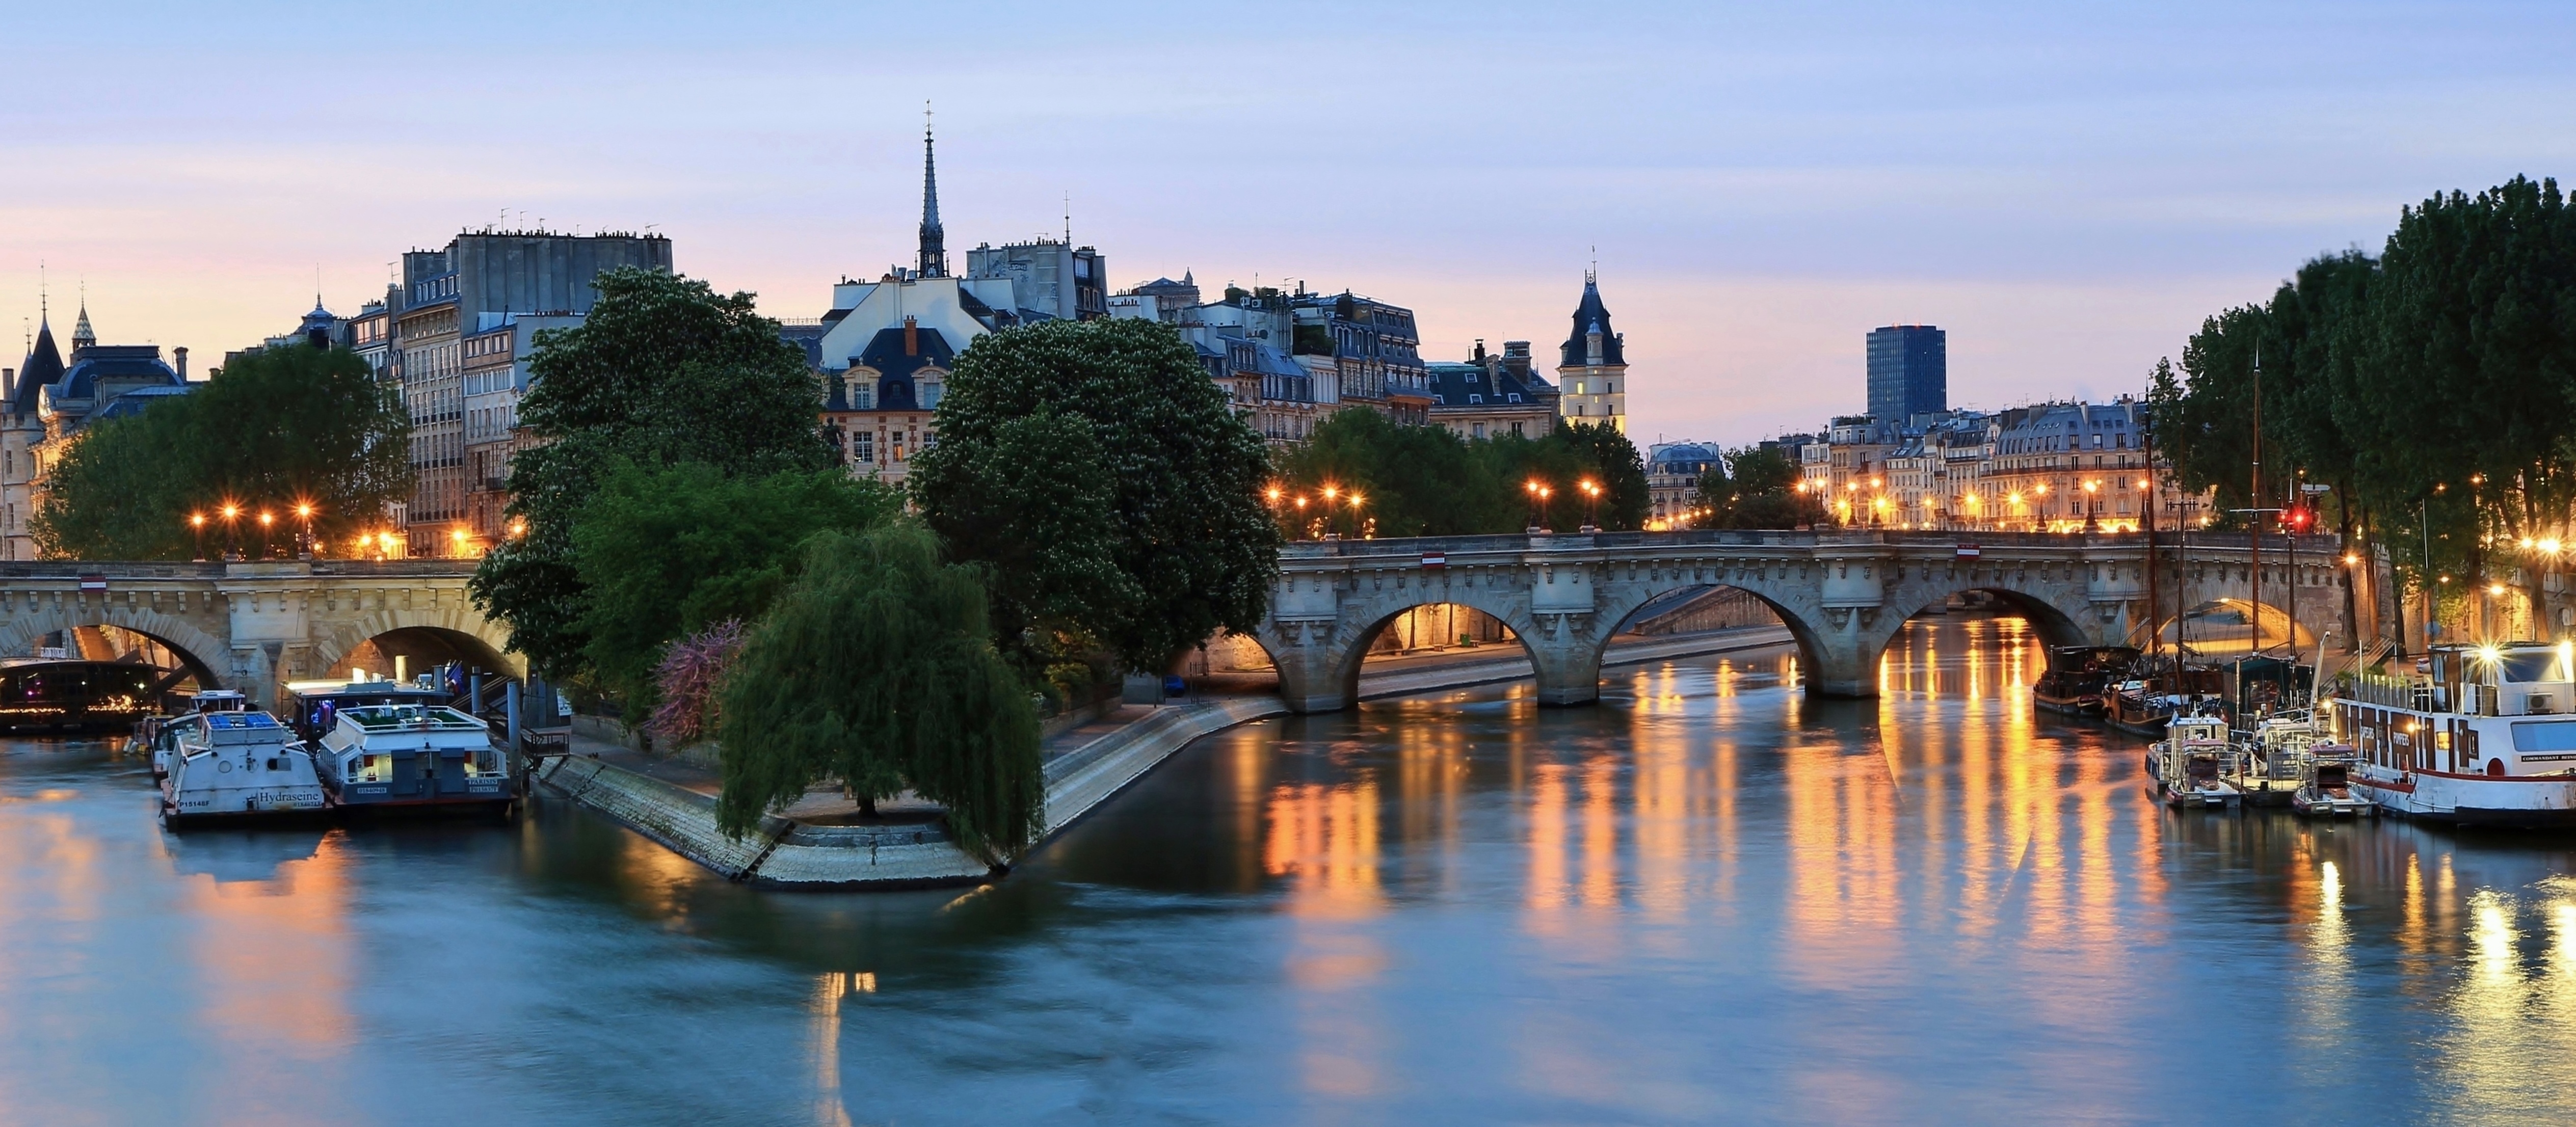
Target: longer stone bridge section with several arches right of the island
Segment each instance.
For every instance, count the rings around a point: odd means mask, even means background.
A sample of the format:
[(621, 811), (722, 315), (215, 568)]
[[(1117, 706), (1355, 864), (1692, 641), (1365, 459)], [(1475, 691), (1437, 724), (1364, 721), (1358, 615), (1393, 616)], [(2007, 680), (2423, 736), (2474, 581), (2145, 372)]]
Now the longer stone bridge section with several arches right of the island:
[[(2295, 602), (2298, 630), (2344, 618), (2349, 582), (2334, 538), (2264, 538), (2262, 602)], [(1543, 705), (1600, 695), (1602, 646), (1654, 600), (1736, 587), (1780, 615), (1808, 692), (1878, 692), (1878, 654), (1953, 594), (1989, 592), (2050, 646), (2143, 646), (2148, 623), (2213, 600), (2249, 602), (2246, 538), (2164, 535), (2156, 612), (2143, 535), (2050, 533), (1600, 533), (1306, 540), (1280, 551), (1280, 582), (1257, 641), (1301, 713), (1358, 700), (1360, 661), (1404, 610), (1466, 605), (1520, 636)], [(2295, 584), (2298, 594), (2287, 597)]]

